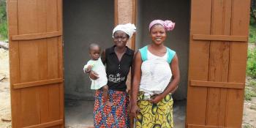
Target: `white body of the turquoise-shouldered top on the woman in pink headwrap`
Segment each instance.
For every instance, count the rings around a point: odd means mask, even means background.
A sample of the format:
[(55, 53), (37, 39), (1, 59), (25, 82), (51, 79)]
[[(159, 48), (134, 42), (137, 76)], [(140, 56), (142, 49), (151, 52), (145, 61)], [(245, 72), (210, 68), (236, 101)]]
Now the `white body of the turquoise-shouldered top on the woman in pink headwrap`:
[(151, 95), (160, 94), (172, 78), (170, 64), (167, 62), (168, 53), (155, 56), (147, 50), (146, 54), (147, 59), (141, 64), (140, 91)]

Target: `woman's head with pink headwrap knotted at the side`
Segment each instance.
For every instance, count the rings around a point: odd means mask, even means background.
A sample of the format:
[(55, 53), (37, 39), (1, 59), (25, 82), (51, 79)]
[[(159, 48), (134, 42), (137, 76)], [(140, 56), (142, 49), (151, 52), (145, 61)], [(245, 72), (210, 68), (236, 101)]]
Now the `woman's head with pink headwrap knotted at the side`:
[(174, 29), (175, 23), (170, 20), (153, 20), (149, 26), (149, 32), (152, 41), (160, 45), (166, 39), (166, 31), (172, 31)]

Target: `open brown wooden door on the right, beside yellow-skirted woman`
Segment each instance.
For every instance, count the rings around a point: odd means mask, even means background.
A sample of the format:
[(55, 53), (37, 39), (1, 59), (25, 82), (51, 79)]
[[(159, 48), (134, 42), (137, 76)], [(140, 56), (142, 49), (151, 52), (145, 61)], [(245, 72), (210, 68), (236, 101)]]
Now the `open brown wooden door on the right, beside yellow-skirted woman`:
[(192, 0), (186, 127), (241, 127), (249, 0)]

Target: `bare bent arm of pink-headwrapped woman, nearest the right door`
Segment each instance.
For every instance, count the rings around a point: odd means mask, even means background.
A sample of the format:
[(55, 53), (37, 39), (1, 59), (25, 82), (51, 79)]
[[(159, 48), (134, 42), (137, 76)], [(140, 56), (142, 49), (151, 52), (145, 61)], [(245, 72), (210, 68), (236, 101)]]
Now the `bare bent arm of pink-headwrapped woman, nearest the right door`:
[(173, 79), (170, 81), (168, 86), (165, 88), (165, 91), (163, 91), (161, 94), (159, 94), (157, 97), (151, 100), (153, 103), (157, 103), (161, 101), (167, 94), (170, 92), (173, 92), (176, 90), (176, 87), (178, 86), (179, 80), (180, 80), (180, 72), (178, 68), (178, 56), (175, 55), (173, 57), (173, 61), (170, 64), (170, 69), (172, 70), (173, 73)]

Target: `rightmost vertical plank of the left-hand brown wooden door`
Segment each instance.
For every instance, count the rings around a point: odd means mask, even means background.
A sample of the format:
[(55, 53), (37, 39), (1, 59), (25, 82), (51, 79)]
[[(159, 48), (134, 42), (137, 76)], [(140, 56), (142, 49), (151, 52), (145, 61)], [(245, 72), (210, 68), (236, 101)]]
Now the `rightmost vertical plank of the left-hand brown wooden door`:
[[(47, 31), (62, 31), (62, 22), (61, 22), (61, 1), (59, 0), (47, 0), (46, 1), (48, 5), (47, 7)], [(60, 76), (60, 72), (62, 72), (62, 57), (59, 55), (59, 51), (62, 49), (59, 48), (59, 45), (62, 45), (62, 37), (56, 37), (56, 38), (48, 38), (48, 78), (62, 78), (63, 76)], [(62, 50), (61, 50), (62, 51)], [(61, 99), (61, 95), (63, 95), (63, 91), (61, 93), (60, 86), (63, 86), (62, 83), (54, 84), (52, 86), (49, 86), (48, 88), (48, 94), (49, 94), (49, 116), (48, 119), (50, 121), (56, 120), (56, 119), (64, 119), (64, 117), (61, 117), (64, 115), (64, 106), (61, 106), (61, 102), (64, 102), (64, 99)], [(63, 97), (63, 96), (62, 96)], [(63, 111), (61, 111), (63, 110)], [(61, 124), (61, 126), (55, 126), (56, 127), (64, 127), (64, 124)]]

